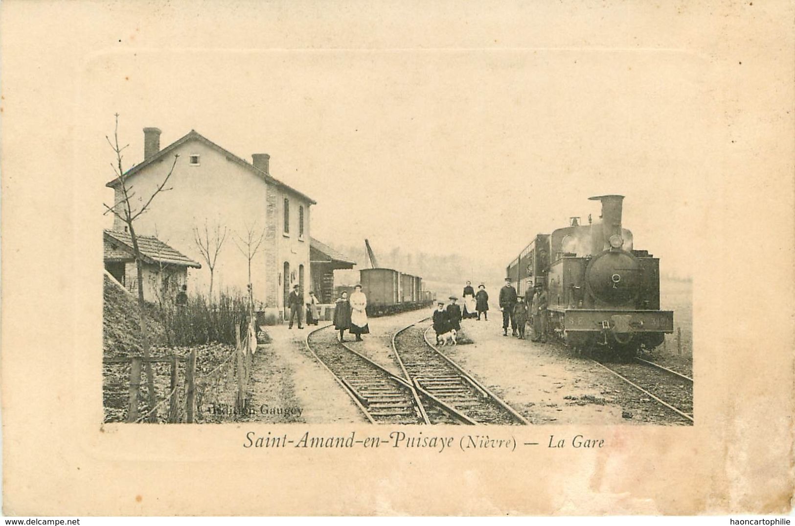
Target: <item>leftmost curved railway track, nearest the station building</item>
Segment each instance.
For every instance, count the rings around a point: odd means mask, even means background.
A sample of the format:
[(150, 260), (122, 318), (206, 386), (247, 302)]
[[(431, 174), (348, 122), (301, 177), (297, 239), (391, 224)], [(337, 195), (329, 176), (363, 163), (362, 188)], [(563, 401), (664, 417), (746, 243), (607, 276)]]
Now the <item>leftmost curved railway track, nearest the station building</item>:
[(333, 325), (309, 332), (306, 346), (370, 423), (428, 424), (431, 417), (433, 423), (469, 423), (429, 393), (418, 392), (406, 380), (340, 342)]

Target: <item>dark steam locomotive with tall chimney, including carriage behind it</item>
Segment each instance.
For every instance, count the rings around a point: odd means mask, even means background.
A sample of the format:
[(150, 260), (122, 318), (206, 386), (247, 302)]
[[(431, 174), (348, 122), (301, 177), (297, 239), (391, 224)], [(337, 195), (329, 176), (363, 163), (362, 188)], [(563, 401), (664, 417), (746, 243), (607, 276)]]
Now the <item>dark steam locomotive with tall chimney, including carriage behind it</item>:
[(673, 332), (673, 311), (660, 310), (660, 260), (635, 250), (622, 228), (623, 196), (601, 201), (601, 221), (538, 234), (507, 268), (518, 294), (547, 292), (550, 332), (576, 349), (622, 356), (660, 345)]

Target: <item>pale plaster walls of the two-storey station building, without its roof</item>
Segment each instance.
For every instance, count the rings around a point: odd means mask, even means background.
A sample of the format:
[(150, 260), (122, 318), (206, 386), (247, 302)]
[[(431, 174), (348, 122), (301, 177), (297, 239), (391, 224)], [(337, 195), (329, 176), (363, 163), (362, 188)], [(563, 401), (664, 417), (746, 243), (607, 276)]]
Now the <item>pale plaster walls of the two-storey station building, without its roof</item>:
[[(199, 270), (188, 271), (188, 290), (207, 294), (210, 282), (210, 271), (196, 247), (193, 228), (204, 228), (204, 221), (210, 228), (215, 223), (226, 225), (227, 240), (218, 257), (215, 267), (214, 295), (219, 290), (237, 288), (245, 294), (247, 282), (247, 259), (238, 250), (238, 245), (245, 251), (246, 247), (240, 238), (245, 238), (247, 229), (253, 227), (257, 237), (266, 227), (266, 192), (277, 191), (277, 228), (276, 247), (263, 240), (258, 254), (251, 262), (254, 298), (258, 302), (266, 301), (266, 281), (278, 280), (281, 265), (289, 261), (290, 266), (305, 266), (305, 280), (309, 279), (309, 206), (304, 205), (304, 241), (298, 240), (298, 206), (297, 196), (290, 198), (290, 238), (282, 237), (281, 206), (285, 195), (266, 184), (249, 169), (239, 166), (217, 150), (204, 142), (190, 141), (180, 146), (176, 153), (177, 159), (172, 176), (169, 178), (165, 193), (155, 197), (145, 214), (136, 222), (136, 232), (143, 235), (157, 236), (160, 240), (176, 248), (184, 255), (202, 263)], [(189, 156), (200, 155), (200, 166), (190, 166)], [(130, 186), (135, 192), (134, 201), (148, 197), (161, 183), (173, 162), (165, 158), (161, 162), (146, 166), (130, 179)], [(294, 224), (292, 224), (294, 223)], [(266, 267), (266, 250), (277, 250), (277, 268)], [(278, 289), (281, 291), (281, 287)], [(281, 294), (277, 294), (281, 303)]]

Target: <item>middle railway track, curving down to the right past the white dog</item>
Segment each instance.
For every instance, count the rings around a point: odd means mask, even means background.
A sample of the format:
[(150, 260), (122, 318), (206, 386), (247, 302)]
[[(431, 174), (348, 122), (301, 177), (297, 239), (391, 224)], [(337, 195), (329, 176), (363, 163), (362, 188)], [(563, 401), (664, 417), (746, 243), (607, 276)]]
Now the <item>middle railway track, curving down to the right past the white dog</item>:
[(442, 423), (437, 419), (438, 415), (456, 416), (469, 424), (528, 423), (502, 399), (440, 353), (426, 337), (429, 329), (417, 324), (404, 327), (392, 338), (392, 349), (405, 380), (419, 393), (421, 402), (432, 402), (426, 411), (430, 423)]

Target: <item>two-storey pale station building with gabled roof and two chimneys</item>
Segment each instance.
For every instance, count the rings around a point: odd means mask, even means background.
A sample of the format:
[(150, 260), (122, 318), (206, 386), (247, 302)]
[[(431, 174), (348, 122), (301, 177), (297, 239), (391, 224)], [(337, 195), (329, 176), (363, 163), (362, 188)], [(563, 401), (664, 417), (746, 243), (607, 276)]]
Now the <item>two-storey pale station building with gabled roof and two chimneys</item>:
[[(221, 232), (225, 229), (213, 295), (221, 290), (246, 294), (250, 271), (255, 307), (283, 319), (293, 285), (308, 294), (314, 284), (310, 224), (316, 201), (273, 177), (269, 154), (253, 154), (248, 162), (194, 130), (161, 149), (160, 135), (157, 128), (144, 128), (144, 159), (122, 176), (128, 193), (134, 193), (134, 208), (141, 206), (142, 199), (161, 185), (175, 155), (179, 156), (165, 185), (168, 190), (159, 193), (135, 220), (136, 233), (154, 236), (204, 264), (196, 232), (204, 236), (205, 227), (211, 234), (216, 227)], [(114, 189), (114, 203), (120, 203), (120, 179), (109, 181), (107, 187)], [(112, 230), (124, 233), (126, 225), (114, 217)], [(324, 263), (321, 273), (331, 262)], [(210, 272), (204, 267), (188, 274), (188, 292), (207, 294)]]

